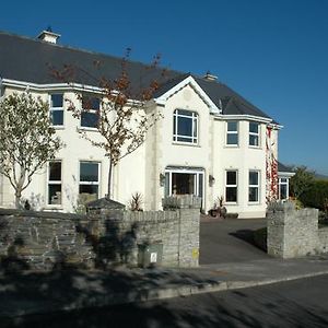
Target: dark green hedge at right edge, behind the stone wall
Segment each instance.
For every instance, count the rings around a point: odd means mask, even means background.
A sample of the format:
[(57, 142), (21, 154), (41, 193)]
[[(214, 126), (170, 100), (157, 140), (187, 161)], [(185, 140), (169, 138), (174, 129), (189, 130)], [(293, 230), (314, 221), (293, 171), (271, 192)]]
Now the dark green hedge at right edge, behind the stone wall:
[[(325, 211), (328, 206), (328, 180), (317, 180), (301, 195), (300, 200), (307, 208), (316, 208)], [(327, 210), (327, 209), (326, 209)]]

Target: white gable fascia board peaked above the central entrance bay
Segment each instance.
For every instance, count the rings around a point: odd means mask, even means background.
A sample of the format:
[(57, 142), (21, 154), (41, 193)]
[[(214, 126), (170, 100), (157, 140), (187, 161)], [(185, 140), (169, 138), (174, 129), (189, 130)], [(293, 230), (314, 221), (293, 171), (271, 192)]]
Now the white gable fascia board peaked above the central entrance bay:
[(175, 93), (177, 93), (188, 84), (190, 84), (190, 86), (198, 93), (202, 101), (209, 106), (210, 113), (221, 114), (222, 110), (218, 108), (218, 106), (211, 101), (211, 98), (207, 95), (207, 93), (200, 87), (200, 85), (195, 81), (195, 79), (191, 75), (177, 83), (175, 86), (166, 91), (160, 97), (154, 98), (155, 103), (164, 106), (169, 97), (172, 97)]

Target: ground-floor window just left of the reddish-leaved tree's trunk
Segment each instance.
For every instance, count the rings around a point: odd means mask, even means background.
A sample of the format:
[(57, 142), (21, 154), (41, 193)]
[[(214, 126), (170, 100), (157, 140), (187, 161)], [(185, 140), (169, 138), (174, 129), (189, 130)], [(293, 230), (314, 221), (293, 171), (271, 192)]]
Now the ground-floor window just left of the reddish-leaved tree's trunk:
[(89, 194), (94, 199), (99, 195), (99, 169), (98, 162), (80, 162), (79, 195)]

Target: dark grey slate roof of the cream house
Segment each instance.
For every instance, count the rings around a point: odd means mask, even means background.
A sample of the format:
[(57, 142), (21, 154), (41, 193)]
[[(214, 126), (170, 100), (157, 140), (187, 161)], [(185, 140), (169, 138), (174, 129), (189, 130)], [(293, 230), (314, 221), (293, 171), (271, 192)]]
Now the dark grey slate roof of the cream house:
[[(0, 32), (0, 78), (38, 84), (58, 83), (58, 79), (51, 75), (50, 67), (60, 70), (65, 66), (74, 68), (71, 82), (97, 85), (101, 77), (113, 80), (119, 75), (121, 58)], [(163, 78), (162, 69), (149, 69), (137, 61), (129, 61), (127, 69), (136, 91), (156, 79), (161, 87), (155, 96), (190, 75), (169, 70)], [(223, 114), (270, 118), (225, 84), (192, 77), (218, 107), (222, 104)]]

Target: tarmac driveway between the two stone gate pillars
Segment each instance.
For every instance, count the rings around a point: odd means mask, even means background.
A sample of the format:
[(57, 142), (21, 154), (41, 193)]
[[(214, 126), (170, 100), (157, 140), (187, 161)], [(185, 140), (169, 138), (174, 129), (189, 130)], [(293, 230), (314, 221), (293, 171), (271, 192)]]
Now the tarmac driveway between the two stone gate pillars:
[(200, 265), (239, 262), (269, 256), (251, 244), (251, 232), (266, 226), (265, 219), (226, 219), (200, 223)]

